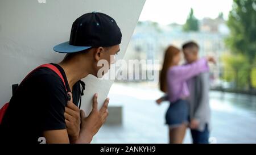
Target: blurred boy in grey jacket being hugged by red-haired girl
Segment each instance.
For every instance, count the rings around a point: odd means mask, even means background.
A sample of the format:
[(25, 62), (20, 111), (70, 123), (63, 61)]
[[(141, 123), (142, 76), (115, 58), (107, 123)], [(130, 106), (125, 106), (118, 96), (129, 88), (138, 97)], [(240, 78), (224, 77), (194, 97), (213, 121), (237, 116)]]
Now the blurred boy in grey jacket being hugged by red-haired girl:
[[(183, 53), (187, 63), (191, 64), (199, 59), (199, 45), (189, 41), (183, 45)], [(209, 143), (210, 105), (209, 105), (209, 72), (187, 81), (190, 95), (190, 129), (194, 144)]]

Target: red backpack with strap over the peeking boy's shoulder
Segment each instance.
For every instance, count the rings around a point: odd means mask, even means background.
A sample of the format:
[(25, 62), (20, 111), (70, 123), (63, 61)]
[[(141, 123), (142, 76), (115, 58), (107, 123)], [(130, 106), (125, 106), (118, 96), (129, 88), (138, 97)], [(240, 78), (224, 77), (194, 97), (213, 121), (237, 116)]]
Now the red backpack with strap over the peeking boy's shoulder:
[[(61, 80), (63, 81), (66, 91), (68, 91), (67, 86), (66, 86), (65, 81), (64, 81), (64, 78), (63, 78), (62, 74), (60, 73), (60, 70), (57, 69), (56, 66), (54, 66), (54, 65), (52, 65), (52, 64), (44, 64), (44, 65), (38, 66), (36, 69), (43, 68), (43, 67), (44, 67), (44, 68), (49, 68), (49, 69), (51, 69), (53, 72), (55, 72), (55, 73), (61, 78)], [(28, 76), (30, 76), (30, 74), (33, 73), (36, 69), (34, 69), (34, 70), (32, 70), (30, 73), (28, 73), (27, 76), (23, 79), (23, 81), (24, 81)], [(22, 81), (22, 82), (23, 82), (23, 81)], [(18, 84), (13, 85), (13, 93), (14, 93), (14, 91), (15, 91), (17, 88), (18, 88)], [(84, 88), (84, 87), (83, 87), (83, 88)], [(80, 106), (81, 106), (81, 97), (80, 97)], [(79, 108), (80, 108), (80, 106), (79, 106)], [(6, 112), (6, 110), (7, 110), (8, 107), (9, 107), (9, 102), (8, 102), (8, 103), (5, 103), (5, 105), (0, 109), (0, 124), (2, 123), (2, 119), (3, 119), (3, 117), (5, 116), (5, 112)]]

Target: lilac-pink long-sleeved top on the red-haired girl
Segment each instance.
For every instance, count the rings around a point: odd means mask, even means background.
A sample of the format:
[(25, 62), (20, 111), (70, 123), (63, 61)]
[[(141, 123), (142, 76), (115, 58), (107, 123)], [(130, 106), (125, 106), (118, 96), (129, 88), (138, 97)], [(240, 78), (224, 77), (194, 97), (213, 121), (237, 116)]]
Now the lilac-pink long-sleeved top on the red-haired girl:
[(178, 65), (170, 68), (167, 73), (168, 97), (170, 102), (189, 96), (187, 80), (202, 72), (208, 72), (206, 58), (201, 58), (192, 64)]

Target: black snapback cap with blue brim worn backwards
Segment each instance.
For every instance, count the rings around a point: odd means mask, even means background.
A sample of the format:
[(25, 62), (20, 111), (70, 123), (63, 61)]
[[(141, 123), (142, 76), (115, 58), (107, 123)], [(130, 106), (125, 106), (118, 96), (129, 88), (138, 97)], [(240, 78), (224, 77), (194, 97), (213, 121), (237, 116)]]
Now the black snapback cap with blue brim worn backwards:
[(121, 43), (122, 33), (109, 15), (92, 12), (75, 20), (69, 41), (56, 45), (53, 50), (60, 53), (75, 53), (92, 47), (111, 47)]

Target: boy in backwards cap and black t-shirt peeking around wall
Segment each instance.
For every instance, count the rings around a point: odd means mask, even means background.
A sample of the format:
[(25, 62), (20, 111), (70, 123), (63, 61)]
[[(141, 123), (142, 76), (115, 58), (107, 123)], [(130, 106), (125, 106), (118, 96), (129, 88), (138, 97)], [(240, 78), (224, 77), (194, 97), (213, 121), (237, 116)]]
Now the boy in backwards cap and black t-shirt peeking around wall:
[[(119, 52), (122, 34), (115, 20), (106, 14), (92, 12), (73, 22), (68, 42), (56, 45), (56, 52), (67, 53), (54, 65), (63, 80), (49, 68), (39, 68), (20, 83), (10, 100), (0, 125), (1, 143), (90, 143), (108, 116), (107, 98), (97, 109), (97, 94), (92, 99), (93, 110), (85, 118), (77, 107), (80, 79), (88, 74), (97, 77), (97, 62)], [(66, 90), (67, 89), (67, 90)]]

